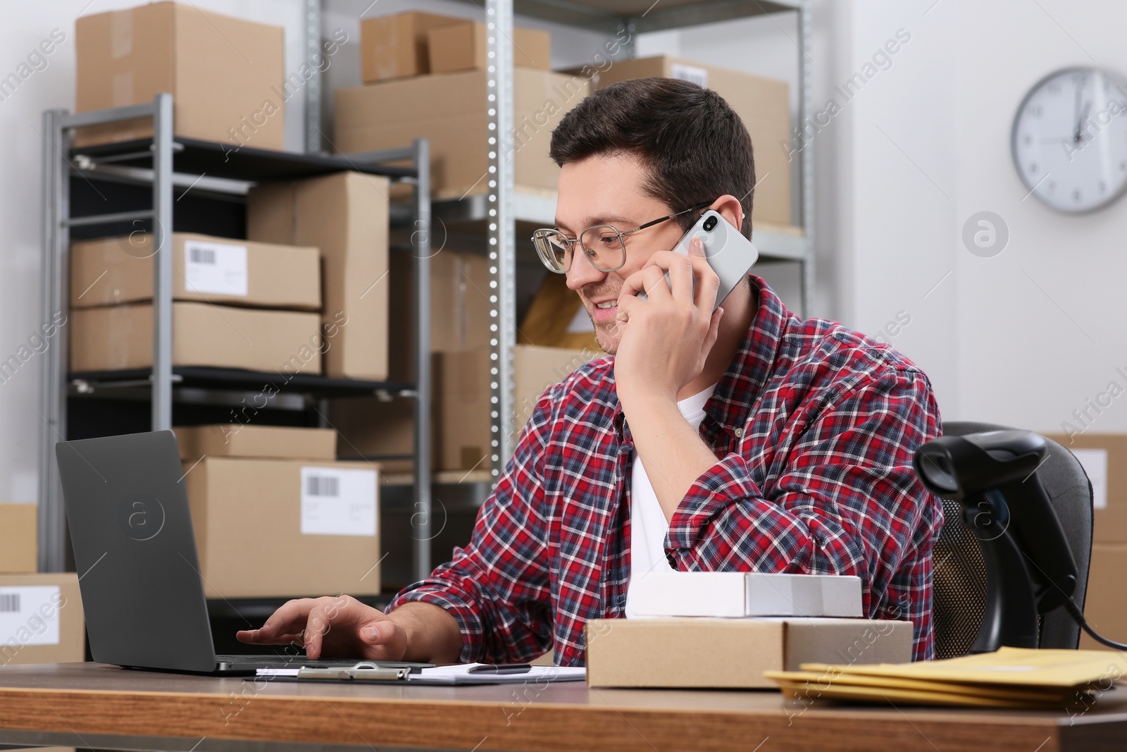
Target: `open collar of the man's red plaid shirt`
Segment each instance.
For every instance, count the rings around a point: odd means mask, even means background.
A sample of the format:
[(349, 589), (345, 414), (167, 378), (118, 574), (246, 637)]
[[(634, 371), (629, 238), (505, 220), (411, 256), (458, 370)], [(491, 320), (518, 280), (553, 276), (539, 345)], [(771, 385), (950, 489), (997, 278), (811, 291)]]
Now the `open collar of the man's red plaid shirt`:
[[(760, 392), (774, 374), (779, 345), (788, 319), (793, 317), (762, 277), (754, 274), (747, 276), (756, 301), (755, 316), (728, 370), (704, 405), (704, 413), (734, 434), (747, 423)], [(610, 377), (613, 381), (613, 369)], [(623, 437), (623, 422), (622, 405), (615, 399), (613, 424), (620, 437)], [(624, 437), (629, 441), (629, 433)]]

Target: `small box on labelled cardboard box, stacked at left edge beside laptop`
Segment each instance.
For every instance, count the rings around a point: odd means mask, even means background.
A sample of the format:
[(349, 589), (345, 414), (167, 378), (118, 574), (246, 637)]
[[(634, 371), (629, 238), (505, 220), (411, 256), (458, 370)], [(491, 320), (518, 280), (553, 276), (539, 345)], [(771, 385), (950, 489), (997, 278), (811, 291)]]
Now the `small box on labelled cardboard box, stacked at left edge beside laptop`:
[(36, 512), (0, 503), (0, 666), (86, 660), (78, 575), (36, 573)]

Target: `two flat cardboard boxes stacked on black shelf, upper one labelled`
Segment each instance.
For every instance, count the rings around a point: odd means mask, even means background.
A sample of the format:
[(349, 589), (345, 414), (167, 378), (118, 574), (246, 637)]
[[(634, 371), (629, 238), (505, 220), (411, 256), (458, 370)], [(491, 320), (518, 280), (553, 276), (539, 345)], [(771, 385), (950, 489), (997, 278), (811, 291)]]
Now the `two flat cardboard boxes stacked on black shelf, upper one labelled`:
[[(71, 246), (72, 371), (152, 365), (153, 237)], [(318, 250), (174, 232), (172, 364), (319, 373)]]

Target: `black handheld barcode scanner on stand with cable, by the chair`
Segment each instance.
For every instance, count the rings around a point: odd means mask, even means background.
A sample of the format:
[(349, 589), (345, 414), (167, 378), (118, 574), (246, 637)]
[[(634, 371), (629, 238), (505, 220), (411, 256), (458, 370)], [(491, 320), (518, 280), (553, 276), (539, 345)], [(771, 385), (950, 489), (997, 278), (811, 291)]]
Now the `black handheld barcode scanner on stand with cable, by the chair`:
[(971, 653), (1006, 645), (1038, 646), (1038, 614), (1064, 607), (1093, 639), (1072, 600), (1076, 559), (1037, 475), (1048, 444), (1031, 431), (987, 431), (940, 436), (916, 450), (920, 481), (940, 498), (962, 505), (986, 563), (986, 611)]

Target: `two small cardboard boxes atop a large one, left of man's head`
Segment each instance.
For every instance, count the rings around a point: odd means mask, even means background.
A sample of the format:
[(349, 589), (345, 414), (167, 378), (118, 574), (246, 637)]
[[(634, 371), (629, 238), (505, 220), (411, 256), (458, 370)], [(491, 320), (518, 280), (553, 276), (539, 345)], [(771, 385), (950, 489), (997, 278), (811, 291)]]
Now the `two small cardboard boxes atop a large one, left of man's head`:
[[(336, 91), (337, 150), (431, 142), (431, 187), (440, 198), (488, 191), (485, 24), (434, 14), (369, 18), (361, 26), (364, 86)], [(547, 32), (514, 32), (515, 182), (554, 192), (559, 168), (548, 157), (552, 129), (589, 90), (553, 73)]]

